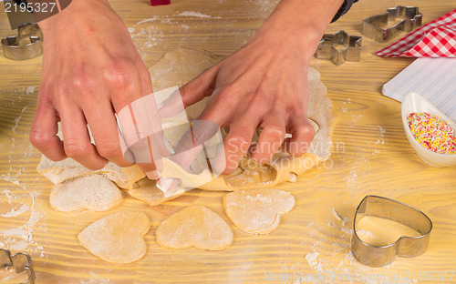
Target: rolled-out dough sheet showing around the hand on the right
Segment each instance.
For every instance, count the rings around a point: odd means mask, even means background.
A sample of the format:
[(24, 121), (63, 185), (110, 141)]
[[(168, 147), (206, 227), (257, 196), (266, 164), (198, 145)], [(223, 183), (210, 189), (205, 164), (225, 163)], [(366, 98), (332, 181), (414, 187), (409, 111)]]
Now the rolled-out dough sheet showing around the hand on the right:
[[(193, 77), (198, 76), (204, 69), (212, 66), (220, 57), (212, 56), (202, 50), (184, 49), (167, 53), (149, 69), (154, 90), (171, 86), (182, 86)], [(302, 157), (292, 157), (286, 153), (277, 152), (273, 160), (265, 165), (254, 165), (254, 162), (244, 157), (243, 162), (235, 171), (236, 175), (218, 176), (211, 182), (198, 188), (206, 190), (235, 191), (248, 188), (273, 188), (275, 185), (295, 180), (295, 175), (301, 175), (307, 169), (325, 161), (330, 155), (331, 133), (333, 118), (331, 101), (326, 96), (326, 86), (320, 81), (320, 73), (310, 67), (308, 71), (309, 96), (308, 117), (316, 123), (316, 136), (308, 152)], [(186, 108), (187, 117), (196, 119), (202, 112), (209, 97)], [(256, 138), (258, 135), (255, 136)], [(255, 140), (254, 140), (255, 141)], [(198, 175), (183, 171), (188, 179), (195, 180)]]

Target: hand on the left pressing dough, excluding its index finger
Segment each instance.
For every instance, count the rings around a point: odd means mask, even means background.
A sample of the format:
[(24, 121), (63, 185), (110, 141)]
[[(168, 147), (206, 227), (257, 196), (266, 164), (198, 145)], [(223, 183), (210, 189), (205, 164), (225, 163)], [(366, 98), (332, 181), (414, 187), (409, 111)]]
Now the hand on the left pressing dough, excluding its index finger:
[[(107, 0), (73, 1), (39, 25), (45, 41), (32, 145), (51, 160), (72, 157), (89, 169), (108, 161), (130, 166), (120, 148), (115, 113), (151, 94), (152, 86), (127, 27)], [(156, 113), (157, 106), (150, 111)], [(58, 121), (63, 141), (56, 136)], [(158, 177), (155, 165), (140, 166)]]

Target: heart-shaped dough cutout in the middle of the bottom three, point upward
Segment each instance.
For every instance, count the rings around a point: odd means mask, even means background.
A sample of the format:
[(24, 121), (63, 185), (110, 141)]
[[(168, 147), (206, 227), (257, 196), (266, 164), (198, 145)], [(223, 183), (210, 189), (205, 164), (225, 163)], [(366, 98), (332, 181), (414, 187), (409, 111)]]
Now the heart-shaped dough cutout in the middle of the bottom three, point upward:
[(233, 243), (233, 231), (217, 213), (192, 205), (161, 222), (155, 232), (161, 247), (220, 250)]

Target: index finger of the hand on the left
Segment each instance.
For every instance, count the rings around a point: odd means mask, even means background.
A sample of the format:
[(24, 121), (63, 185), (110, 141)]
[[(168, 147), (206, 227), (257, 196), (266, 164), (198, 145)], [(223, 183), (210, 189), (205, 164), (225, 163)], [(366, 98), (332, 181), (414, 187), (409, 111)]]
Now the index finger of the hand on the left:
[[(119, 115), (122, 135), (135, 162), (152, 178), (157, 178), (156, 162), (167, 148), (162, 141), (161, 119), (145, 66), (118, 62), (108, 73), (112, 105)], [(123, 112), (125, 115), (121, 115)], [(131, 123), (130, 123), (131, 122)], [(134, 148), (132, 146), (135, 146)], [(143, 155), (147, 152), (148, 155)], [(160, 168), (159, 168), (160, 170)]]

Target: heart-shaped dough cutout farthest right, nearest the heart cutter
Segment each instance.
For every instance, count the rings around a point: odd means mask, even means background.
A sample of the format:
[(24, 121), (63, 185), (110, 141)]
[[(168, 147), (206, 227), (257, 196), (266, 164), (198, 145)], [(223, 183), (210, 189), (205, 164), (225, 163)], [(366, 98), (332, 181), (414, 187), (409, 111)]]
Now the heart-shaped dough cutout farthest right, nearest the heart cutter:
[(254, 188), (227, 194), (223, 204), (238, 228), (247, 233), (267, 234), (277, 228), (280, 216), (295, 206), (295, 198), (274, 188)]

